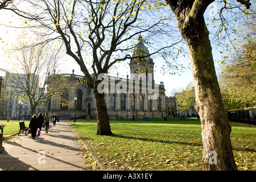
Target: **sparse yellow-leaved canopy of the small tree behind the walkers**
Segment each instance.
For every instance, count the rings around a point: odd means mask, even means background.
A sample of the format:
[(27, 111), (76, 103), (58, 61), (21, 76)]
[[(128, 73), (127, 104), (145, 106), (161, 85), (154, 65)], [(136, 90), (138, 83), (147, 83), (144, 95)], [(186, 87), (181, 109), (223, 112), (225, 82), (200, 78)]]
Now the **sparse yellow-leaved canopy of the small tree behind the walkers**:
[[(65, 86), (65, 77), (57, 77), (58, 59), (56, 50), (51, 48), (49, 43), (43, 43), (43, 37), (38, 37), (28, 33), (19, 36), (17, 43), (11, 49), (6, 49), (9, 59), (7, 64), (11, 65), (7, 69), (10, 83), (6, 98), (18, 98), (27, 101), (31, 107), (31, 114), (35, 114), (35, 109), (42, 104), (46, 104), (51, 98), (57, 97)], [(38, 44), (27, 47), (28, 44)], [(56, 86), (47, 86), (48, 82), (55, 82)], [(69, 87), (72, 87), (70, 84)]]

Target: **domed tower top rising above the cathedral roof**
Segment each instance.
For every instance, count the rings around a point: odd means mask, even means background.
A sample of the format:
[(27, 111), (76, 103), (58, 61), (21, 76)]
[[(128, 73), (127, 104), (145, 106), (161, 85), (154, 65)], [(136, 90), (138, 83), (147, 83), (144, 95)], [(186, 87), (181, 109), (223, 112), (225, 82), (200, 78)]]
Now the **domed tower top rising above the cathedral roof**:
[[(138, 45), (135, 47), (133, 56), (135, 59), (130, 61), (130, 73), (138, 73), (139, 75), (145, 73), (152, 73), (152, 83), (154, 83), (154, 63), (150, 58), (149, 49), (144, 45), (143, 38), (139, 35)], [(148, 81), (148, 80), (147, 80)]]

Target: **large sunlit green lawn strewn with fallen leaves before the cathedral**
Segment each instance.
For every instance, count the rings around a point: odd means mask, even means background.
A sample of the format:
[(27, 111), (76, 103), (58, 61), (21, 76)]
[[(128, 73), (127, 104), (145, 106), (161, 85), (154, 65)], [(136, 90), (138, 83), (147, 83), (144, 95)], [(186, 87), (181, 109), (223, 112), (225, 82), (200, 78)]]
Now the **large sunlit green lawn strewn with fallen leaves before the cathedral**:
[[(201, 123), (197, 119), (112, 120), (113, 136), (95, 135), (96, 121), (70, 123), (105, 166), (119, 170), (202, 170)], [(256, 127), (231, 126), (238, 169), (256, 170)]]

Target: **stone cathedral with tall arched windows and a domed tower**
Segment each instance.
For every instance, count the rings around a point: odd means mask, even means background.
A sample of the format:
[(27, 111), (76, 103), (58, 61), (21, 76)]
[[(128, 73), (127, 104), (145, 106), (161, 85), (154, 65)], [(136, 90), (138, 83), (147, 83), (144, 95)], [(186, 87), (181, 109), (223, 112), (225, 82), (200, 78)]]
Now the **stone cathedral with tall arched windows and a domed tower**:
[[(128, 75), (127, 78), (105, 75), (104, 93), (109, 118), (130, 119), (132, 115), (135, 118), (166, 116), (165, 86), (163, 82), (160, 85), (155, 84), (154, 62), (149, 55), (142, 36), (139, 36), (138, 46), (135, 47), (132, 56), (134, 59), (129, 63), (130, 78)], [(72, 74), (59, 76), (67, 77), (66, 88), (63, 88), (59, 97), (48, 102), (47, 113), (55, 113), (62, 119), (70, 119), (74, 114), (77, 118), (97, 119), (93, 89), (81, 81), (85, 80), (85, 77), (75, 75), (74, 70)], [(49, 83), (49, 88), (52, 84)]]

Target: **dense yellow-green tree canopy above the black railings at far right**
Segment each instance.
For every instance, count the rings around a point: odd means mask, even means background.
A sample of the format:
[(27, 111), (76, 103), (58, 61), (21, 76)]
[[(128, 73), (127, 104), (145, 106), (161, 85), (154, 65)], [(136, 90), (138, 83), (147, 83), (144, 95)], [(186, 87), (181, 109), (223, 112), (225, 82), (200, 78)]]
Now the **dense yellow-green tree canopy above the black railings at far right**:
[(222, 62), (220, 85), (226, 109), (239, 109), (255, 105), (255, 16), (247, 16), (239, 30), (240, 39)]

